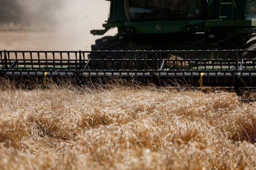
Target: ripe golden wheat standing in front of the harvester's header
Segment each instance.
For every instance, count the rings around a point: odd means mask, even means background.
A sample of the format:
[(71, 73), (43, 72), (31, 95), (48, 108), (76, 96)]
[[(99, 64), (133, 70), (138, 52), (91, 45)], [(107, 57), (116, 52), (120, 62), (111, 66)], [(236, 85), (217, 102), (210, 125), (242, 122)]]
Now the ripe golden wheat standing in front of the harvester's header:
[(256, 105), (171, 87), (1, 84), (1, 169), (252, 169)]

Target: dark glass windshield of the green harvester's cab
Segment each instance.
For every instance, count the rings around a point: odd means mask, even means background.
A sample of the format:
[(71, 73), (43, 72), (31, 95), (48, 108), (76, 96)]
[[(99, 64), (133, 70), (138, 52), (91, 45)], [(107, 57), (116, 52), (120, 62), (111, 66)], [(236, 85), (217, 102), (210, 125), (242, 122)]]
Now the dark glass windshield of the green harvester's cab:
[(199, 18), (200, 0), (129, 0), (126, 8), (131, 20), (170, 20)]

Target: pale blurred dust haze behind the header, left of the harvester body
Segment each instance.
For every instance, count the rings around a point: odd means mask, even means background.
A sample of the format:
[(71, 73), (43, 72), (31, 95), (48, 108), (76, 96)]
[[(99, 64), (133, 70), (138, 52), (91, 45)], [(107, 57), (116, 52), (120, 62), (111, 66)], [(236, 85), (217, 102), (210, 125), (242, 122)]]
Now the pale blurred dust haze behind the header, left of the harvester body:
[[(5, 8), (14, 17), (1, 24), (2, 50), (91, 50), (102, 36), (93, 36), (90, 30), (103, 29), (109, 13), (104, 0), (16, 1), (19, 10)], [(115, 33), (113, 29), (106, 35)]]

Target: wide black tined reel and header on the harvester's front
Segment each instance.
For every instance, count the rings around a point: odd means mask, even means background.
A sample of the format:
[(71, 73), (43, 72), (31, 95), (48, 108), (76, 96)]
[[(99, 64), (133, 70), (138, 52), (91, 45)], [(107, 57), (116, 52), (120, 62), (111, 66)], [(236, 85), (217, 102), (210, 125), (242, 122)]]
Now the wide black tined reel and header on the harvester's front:
[(244, 53), (250, 56), (254, 52), (0, 51), (0, 72), (5, 78), (42, 84), (68, 78), (77, 83), (118, 78), (158, 85), (256, 87), (256, 59), (242, 57)]

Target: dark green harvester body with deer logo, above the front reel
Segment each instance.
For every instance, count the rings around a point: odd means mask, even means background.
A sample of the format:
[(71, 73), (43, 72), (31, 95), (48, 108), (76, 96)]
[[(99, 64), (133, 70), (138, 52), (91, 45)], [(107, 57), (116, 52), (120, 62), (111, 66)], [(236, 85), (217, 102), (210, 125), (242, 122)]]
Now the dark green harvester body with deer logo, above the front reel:
[[(103, 35), (92, 50), (202, 50), (256, 48), (254, 0), (110, 0)], [(244, 54), (244, 57), (247, 53)]]

